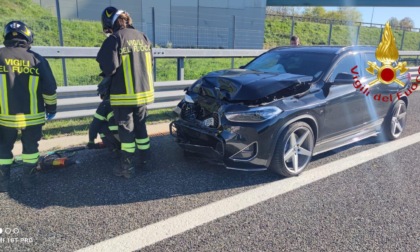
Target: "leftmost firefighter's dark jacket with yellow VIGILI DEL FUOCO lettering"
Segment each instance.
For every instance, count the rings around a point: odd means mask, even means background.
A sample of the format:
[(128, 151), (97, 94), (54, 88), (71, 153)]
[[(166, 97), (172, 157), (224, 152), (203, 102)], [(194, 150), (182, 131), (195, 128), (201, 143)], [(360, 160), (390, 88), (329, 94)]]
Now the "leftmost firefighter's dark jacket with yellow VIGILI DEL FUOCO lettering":
[(25, 128), (45, 123), (57, 109), (57, 84), (50, 65), (16, 42), (0, 49), (0, 126)]

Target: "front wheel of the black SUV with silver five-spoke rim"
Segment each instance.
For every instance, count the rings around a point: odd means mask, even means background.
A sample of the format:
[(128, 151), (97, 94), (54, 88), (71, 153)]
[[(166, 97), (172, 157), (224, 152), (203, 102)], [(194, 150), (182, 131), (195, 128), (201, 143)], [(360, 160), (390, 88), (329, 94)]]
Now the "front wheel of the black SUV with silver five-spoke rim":
[(314, 145), (312, 128), (305, 122), (292, 123), (277, 140), (270, 169), (285, 177), (299, 175), (311, 161)]

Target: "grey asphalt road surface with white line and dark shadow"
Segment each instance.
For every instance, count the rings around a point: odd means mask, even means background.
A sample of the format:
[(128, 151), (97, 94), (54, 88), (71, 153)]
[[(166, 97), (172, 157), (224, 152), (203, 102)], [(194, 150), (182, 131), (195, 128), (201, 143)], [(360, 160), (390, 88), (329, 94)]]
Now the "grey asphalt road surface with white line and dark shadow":
[(0, 194), (0, 251), (420, 251), (420, 92), (401, 139), (313, 158), (300, 176), (185, 159), (168, 135), (114, 177), (106, 150)]

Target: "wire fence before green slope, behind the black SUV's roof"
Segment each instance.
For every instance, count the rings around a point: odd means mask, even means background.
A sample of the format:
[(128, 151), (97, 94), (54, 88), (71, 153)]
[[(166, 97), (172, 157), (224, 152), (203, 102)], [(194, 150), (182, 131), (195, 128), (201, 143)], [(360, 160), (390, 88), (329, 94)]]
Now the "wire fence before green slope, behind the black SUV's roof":
[[(287, 45), (298, 35), (303, 45), (377, 45), (384, 24), (311, 17), (267, 15), (264, 46)], [(420, 29), (392, 27), (399, 50), (420, 50)]]

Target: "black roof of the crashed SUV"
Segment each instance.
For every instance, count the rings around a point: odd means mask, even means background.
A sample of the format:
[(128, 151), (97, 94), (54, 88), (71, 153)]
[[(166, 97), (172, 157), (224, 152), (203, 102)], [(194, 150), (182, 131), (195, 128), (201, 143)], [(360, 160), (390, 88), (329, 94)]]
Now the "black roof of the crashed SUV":
[(370, 51), (375, 52), (375, 46), (282, 46), (271, 49), (270, 51), (285, 50), (299, 52), (314, 52), (328, 54), (342, 54), (346, 52)]

